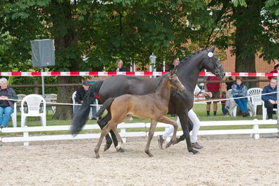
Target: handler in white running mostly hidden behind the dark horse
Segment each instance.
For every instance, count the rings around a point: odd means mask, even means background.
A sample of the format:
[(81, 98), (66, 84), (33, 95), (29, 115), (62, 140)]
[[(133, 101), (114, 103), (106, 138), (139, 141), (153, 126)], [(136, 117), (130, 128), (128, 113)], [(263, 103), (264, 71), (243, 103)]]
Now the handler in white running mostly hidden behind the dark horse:
[[(194, 89), (194, 95), (198, 95), (201, 93), (201, 89), (196, 85), (195, 89)], [(212, 93), (211, 92), (202, 92), (205, 94), (208, 94), (208, 96), (212, 97)], [(198, 141), (198, 132), (199, 132), (199, 127), (200, 127), (200, 121), (199, 118), (196, 116), (196, 113), (194, 113), (194, 110), (191, 109), (188, 112), (188, 117), (191, 120), (191, 122), (193, 123), (193, 129), (192, 129), (192, 135), (190, 136), (191, 138), (191, 143), (192, 143), (192, 147), (196, 148), (196, 149), (201, 149), (203, 148), (203, 146), (199, 145), (199, 143), (197, 143)], [(178, 119), (176, 120), (176, 122), (178, 123), (178, 127), (181, 127), (181, 123)], [(173, 126), (171, 125), (171, 127), (169, 127), (168, 129), (166, 129), (166, 131), (164, 132), (163, 135), (159, 135), (158, 136), (158, 144), (159, 144), (159, 148), (163, 149), (162, 145), (164, 143), (164, 141), (166, 141), (166, 138), (168, 138), (168, 136), (170, 136), (171, 134), (173, 134)]]

